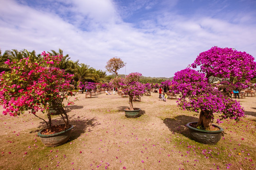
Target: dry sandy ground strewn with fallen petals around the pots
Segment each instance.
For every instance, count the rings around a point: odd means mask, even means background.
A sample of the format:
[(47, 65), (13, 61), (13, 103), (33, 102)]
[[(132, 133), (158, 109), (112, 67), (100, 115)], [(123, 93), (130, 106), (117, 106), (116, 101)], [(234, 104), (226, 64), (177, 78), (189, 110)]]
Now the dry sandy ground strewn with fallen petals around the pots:
[[(141, 109), (135, 119), (125, 117), (127, 97), (75, 97), (79, 101), (67, 108), (73, 134), (61, 146), (41, 143), (37, 132), (44, 122), (28, 112), (18, 117), (0, 115), (0, 169), (256, 170), (256, 97), (239, 99), (247, 117), (220, 124), (225, 133), (215, 145), (190, 139), (185, 125), (198, 116), (179, 110), (175, 99), (160, 101), (158, 93), (133, 103)], [(53, 119), (54, 124), (61, 120)]]

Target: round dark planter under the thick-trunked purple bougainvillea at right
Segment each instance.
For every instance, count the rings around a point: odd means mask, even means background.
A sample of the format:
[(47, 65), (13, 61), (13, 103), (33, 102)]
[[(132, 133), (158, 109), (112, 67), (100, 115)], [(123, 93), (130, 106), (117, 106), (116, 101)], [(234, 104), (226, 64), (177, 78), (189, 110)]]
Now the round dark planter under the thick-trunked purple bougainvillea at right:
[(219, 142), (223, 128), (217, 125), (212, 125), (214, 127), (218, 127), (219, 130), (217, 131), (201, 130), (201, 129), (191, 127), (190, 126), (191, 123), (197, 123), (197, 122), (190, 122), (187, 124), (187, 127), (189, 128), (190, 136), (192, 137), (192, 139), (203, 144), (216, 144), (217, 142)]

